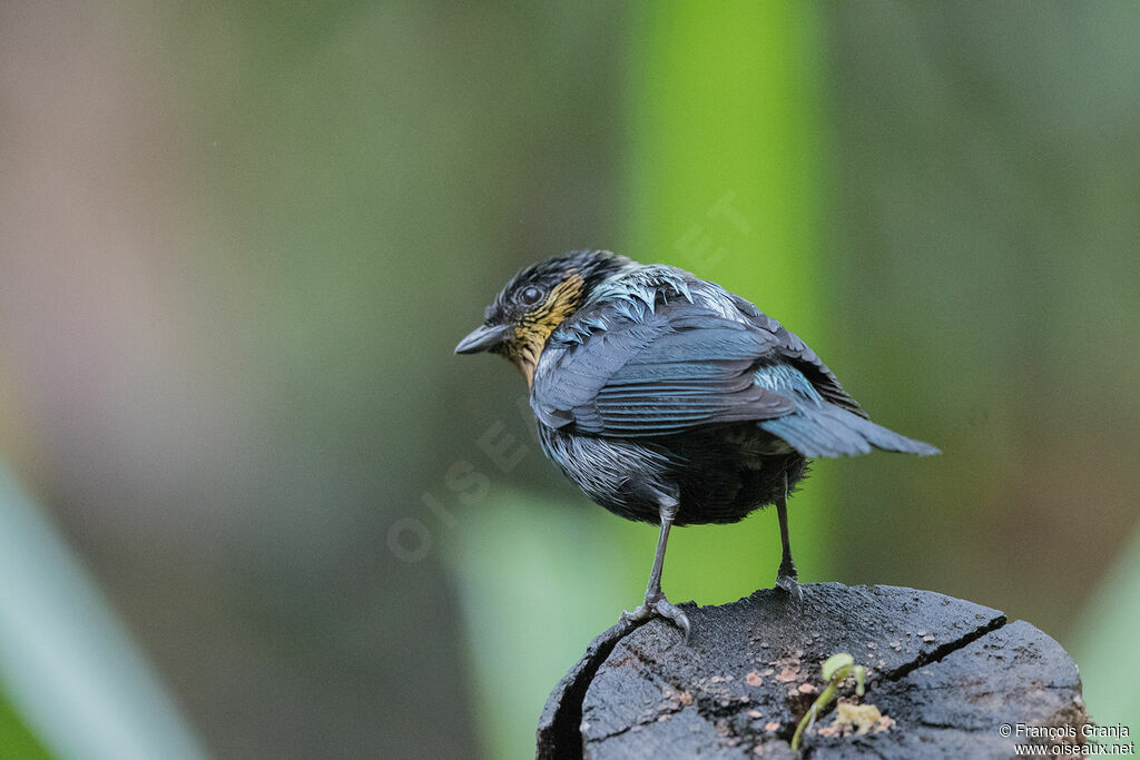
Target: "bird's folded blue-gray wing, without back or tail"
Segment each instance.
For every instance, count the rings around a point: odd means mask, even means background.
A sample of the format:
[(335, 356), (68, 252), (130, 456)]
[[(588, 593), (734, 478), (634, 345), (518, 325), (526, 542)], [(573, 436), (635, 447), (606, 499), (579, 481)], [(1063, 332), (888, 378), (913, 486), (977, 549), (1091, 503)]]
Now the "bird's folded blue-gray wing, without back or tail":
[(665, 308), (617, 321), (577, 344), (547, 348), (531, 406), (552, 427), (614, 436), (763, 420), (796, 410), (756, 369), (779, 359), (777, 336), (743, 320)]

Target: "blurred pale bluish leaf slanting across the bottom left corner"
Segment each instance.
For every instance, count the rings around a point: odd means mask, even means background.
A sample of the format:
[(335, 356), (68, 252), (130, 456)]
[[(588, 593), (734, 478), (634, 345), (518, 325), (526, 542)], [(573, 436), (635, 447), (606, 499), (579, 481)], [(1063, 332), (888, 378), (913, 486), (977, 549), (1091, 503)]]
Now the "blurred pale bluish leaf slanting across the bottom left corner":
[(52, 754), (204, 757), (103, 594), (2, 466), (0, 578), (0, 680)]

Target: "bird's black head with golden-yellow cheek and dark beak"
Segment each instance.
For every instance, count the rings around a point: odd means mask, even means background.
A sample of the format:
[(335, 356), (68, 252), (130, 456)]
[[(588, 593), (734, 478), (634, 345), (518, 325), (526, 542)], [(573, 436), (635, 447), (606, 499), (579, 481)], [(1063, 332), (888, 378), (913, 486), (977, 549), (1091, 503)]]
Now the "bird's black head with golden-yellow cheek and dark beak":
[(504, 286), (487, 307), (482, 326), (459, 341), (455, 352), (498, 353), (522, 371), (529, 385), (551, 333), (594, 287), (629, 263), (609, 251), (571, 251), (527, 267)]

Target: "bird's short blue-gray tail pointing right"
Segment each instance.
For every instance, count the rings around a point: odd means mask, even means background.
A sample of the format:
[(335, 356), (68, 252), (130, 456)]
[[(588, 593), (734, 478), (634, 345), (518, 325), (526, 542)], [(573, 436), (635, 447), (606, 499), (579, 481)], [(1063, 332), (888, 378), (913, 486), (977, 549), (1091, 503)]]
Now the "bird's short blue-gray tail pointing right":
[(826, 402), (758, 424), (808, 458), (869, 453), (871, 447), (923, 457), (940, 453), (929, 443), (899, 435)]

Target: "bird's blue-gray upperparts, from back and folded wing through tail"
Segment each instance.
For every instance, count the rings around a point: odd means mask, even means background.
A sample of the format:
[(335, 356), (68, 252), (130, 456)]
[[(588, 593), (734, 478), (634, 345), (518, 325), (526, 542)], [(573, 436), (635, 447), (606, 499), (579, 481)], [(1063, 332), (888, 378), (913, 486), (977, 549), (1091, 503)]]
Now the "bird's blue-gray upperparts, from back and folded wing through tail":
[(530, 403), (543, 424), (593, 435), (668, 435), (755, 420), (805, 457), (872, 448), (937, 453), (868, 419), (819, 357), (780, 324), (717, 286), (689, 302), (597, 313), (552, 336)]

